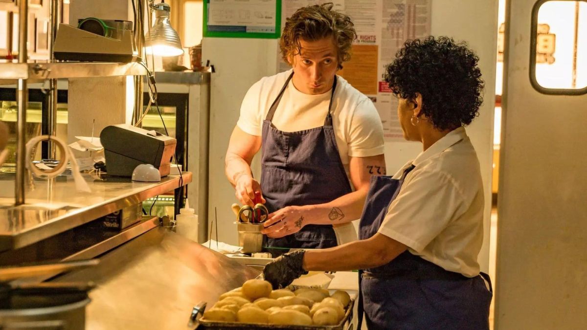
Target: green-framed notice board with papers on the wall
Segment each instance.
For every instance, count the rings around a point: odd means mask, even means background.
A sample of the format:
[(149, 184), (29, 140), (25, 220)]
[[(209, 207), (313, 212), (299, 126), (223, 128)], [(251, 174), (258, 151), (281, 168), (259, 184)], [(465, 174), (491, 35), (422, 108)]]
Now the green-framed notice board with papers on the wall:
[(281, 0), (204, 0), (204, 37), (277, 39)]

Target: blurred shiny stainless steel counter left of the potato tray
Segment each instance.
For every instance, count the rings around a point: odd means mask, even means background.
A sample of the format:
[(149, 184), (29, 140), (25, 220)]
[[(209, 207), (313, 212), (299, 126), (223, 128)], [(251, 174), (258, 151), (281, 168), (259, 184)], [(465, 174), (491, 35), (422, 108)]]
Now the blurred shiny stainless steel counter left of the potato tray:
[[(258, 271), (162, 227), (56, 282), (94, 281), (87, 329), (188, 329), (191, 308), (213, 304)], [(210, 306), (209, 305), (209, 306)]]

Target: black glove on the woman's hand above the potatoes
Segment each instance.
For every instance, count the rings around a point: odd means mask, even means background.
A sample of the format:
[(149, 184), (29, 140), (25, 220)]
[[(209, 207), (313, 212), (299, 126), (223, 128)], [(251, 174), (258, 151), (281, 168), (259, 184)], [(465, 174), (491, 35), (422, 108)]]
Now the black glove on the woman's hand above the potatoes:
[(287, 287), (303, 274), (308, 274), (302, 267), (304, 252), (298, 250), (286, 253), (269, 262), (263, 270), (265, 281), (271, 283), (274, 289), (280, 289)]

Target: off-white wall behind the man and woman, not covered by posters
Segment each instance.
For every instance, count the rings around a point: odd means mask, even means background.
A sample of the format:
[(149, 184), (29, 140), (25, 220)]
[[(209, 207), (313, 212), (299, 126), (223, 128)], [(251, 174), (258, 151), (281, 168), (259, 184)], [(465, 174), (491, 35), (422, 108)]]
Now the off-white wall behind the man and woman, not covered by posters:
[[(467, 15), (462, 15), (467, 12)], [(485, 242), (480, 255), (482, 270), (488, 269), (489, 216), (491, 208), (492, 124), (495, 99), (495, 56), (497, 43), (497, 0), (453, 0), (433, 2), (433, 35), (448, 35), (469, 43), (481, 58), (485, 80), (485, 103), (480, 116), (467, 129), (477, 150), (485, 184)], [(463, 26), (467, 26), (464, 29)], [(203, 62), (211, 60), (216, 68), (211, 84), (210, 122), (210, 211), (218, 210), (218, 240), (237, 243), (230, 205), (234, 190), (224, 176), (224, 154), (230, 133), (239, 115), (239, 107), (248, 88), (263, 76), (276, 73), (276, 40), (204, 38)], [(396, 112), (396, 109), (390, 109)], [(388, 173), (394, 173), (421, 151), (419, 143), (386, 143)], [(258, 175), (258, 159), (254, 172)], [(210, 229), (208, 229), (210, 230)], [(212, 234), (214, 237), (214, 234)]]

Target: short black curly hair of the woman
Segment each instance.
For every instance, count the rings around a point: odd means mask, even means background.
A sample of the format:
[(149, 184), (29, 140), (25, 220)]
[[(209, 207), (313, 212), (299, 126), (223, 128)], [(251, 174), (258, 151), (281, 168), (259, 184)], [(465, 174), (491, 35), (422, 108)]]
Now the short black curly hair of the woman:
[(422, 113), (438, 130), (468, 125), (483, 103), (479, 58), (466, 43), (429, 36), (406, 41), (387, 66), (385, 81), (394, 95), (413, 101), (422, 95)]

